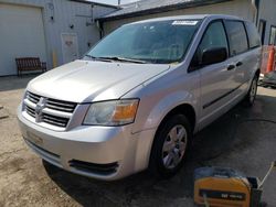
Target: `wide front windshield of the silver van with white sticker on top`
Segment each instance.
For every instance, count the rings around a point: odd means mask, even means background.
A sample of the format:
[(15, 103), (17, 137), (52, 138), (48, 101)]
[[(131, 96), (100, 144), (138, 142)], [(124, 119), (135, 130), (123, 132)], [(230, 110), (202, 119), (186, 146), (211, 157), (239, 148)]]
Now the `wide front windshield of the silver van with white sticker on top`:
[(140, 61), (137, 63), (180, 62), (199, 24), (199, 20), (170, 20), (124, 25), (100, 41), (87, 56)]

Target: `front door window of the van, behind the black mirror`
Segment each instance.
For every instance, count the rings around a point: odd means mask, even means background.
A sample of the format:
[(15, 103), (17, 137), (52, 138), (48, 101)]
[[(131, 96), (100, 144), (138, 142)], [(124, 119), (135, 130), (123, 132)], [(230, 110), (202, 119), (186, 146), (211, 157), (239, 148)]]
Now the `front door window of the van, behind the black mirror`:
[(226, 50), (229, 48), (226, 34), (221, 21), (215, 21), (209, 25), (195, 52), (194, 58), (198, 61), (198, 63), (201, 63), (203, 52), (215, 47), (225, 47)]

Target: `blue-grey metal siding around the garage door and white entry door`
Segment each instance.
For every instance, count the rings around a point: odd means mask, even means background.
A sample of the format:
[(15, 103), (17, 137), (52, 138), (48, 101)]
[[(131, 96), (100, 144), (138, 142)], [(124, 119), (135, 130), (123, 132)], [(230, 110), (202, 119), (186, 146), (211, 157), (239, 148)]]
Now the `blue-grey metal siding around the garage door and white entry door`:
[[(113, 8), (79, 3), (68, 0), (0, 0), (0, 3), (17, 4), (23, 7), (38, 7), (42, 10), (43, 26), (46, 43), (47, 67), (53, 66), (53, 53), (56, 54), (57, 65), (62, 65), (62, 33), (75, 33), (77, 35), (78, 54), (83, 55), (93, 44), (99, 40), (99, 30), (94, 18), (114, 11)], [(53, 6), (53, 7), (52, 7)], [(51, 19), (53, 17), (53, 20)], [(73, 29), (70, 25), (74, 25)]]

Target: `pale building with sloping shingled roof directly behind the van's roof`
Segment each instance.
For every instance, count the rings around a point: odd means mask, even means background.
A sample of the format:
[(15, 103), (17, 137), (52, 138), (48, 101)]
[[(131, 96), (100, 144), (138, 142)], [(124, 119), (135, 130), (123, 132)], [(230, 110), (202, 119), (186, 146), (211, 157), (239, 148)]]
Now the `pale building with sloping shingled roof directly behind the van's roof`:
[(231, 14), (254, 22), (263, 44), (276, 43), (276, 0), (141, 0), (99, 20), (108, 34), (121, 24), (158, 17), (183, 14)]

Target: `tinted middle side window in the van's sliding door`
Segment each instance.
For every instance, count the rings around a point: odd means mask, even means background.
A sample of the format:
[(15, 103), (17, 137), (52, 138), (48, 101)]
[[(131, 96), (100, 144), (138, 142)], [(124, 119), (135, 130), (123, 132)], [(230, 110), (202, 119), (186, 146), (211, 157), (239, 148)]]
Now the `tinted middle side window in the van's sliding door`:
[(225, 21), (226, 31), (230, 42), (230, 54), (237, 55), (248, 50), (247, 36), (243, 22)]

